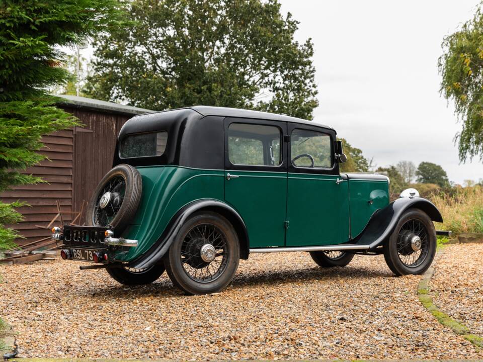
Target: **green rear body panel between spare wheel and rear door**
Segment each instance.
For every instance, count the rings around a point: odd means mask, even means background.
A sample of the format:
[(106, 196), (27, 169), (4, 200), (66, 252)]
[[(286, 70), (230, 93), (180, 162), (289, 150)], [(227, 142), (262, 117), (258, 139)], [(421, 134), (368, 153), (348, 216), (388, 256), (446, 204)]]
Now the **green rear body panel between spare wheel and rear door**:
[(117, 260), (129, 261), (144, 253), (158, 239), (171, 218), (184, 205), (200, 199), (223, 200), (223, 171), (180, 166), (137, 167), (142, 177), (142, 198), (132, 225), (121, 235), (139, 241), (137, 247), (119, 252)]

